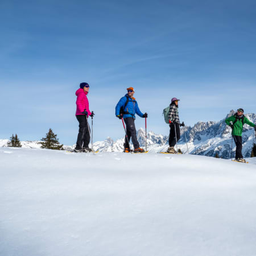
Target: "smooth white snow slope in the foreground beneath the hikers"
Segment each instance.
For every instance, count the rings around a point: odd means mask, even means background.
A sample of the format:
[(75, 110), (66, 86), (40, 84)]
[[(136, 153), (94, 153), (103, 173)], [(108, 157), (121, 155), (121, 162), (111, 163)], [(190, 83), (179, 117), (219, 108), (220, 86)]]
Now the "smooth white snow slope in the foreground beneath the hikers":
[(1, 256), (255, 256), (256, 158), (0, 148)]

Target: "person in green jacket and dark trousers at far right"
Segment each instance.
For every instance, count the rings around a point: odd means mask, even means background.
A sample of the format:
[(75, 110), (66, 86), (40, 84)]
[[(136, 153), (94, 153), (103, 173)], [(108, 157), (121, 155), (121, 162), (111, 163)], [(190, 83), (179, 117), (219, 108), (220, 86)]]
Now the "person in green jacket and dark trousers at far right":
[[(232, 115), (225, 120), (226, 124), (232, 128), (232, 137), (234, 138), (234, 142), (236, 143), (236, 161), (245, 163), (245, 159), (243, 159), (242, 155), (242, 131), (243, 131), (243, 124), (250, 125), (254, 127), (256, 131), (256, 125), (250, 122), (248, 118), (243, 115), (243, 109), (238, 109), (237, 113)], [(232, 123), (231, 123), (232, 122)]]

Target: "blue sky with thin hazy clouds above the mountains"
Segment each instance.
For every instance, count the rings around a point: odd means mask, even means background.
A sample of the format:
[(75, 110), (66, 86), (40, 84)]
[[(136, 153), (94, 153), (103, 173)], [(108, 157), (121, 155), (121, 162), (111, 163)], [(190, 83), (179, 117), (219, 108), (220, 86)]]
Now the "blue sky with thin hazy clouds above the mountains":
[[(256, 109), (255, 1), (0, 2), (0, 138), (39, 140), (49, 127), (76, 142), (75, 91), (90, 84), (94, 141), (123, 136), (114, 115), (128, 86), (147, 129), (168, 134), (162, 110), (218, 121)], [(138, 117), (137, 129), (144, 127)]]

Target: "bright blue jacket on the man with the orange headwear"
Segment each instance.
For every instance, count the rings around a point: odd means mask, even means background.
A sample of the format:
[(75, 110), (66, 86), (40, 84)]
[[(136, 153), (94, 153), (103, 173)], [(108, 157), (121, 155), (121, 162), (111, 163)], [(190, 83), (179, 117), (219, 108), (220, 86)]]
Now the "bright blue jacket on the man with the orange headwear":
[[(121, 107), (125, 106), (127, 100), (126, 96), (129, 97), (128, 94), (125, 94), (125, 96), (118, 101), (117, 106), (115, 106), (115, 115), (119, 115)], [(135, 119), (135, 114), (143, 117), (143, 113), (141, 110), (139, 110), (138, 103), (134, 98), (129, 97), (129, 101), (127, 102), (127, 105), (123, 111), (129, 112), (129, 114), (124, 114), (123, 118), (133, 117)]]

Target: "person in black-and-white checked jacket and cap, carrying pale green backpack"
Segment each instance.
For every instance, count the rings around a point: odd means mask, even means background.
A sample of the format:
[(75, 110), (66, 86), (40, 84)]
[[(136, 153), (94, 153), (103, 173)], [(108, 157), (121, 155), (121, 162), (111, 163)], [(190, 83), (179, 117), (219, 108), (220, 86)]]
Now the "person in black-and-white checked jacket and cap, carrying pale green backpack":
[[(174, 146), (180, 139), (180, 126), (185, 126), (184, 122), (180, 123), (179, 111), (178, 111), (178, 108), (179, 108), (178, 101), (179, 100), (177, 98), (172, 98), (171, 104), (170, 104), (170, 110), (168, 113), (170, 135), (169, 135), (169, 147), (168, 147), (167, 152), (172, 153), (172, 154), (177, 153), (174, 149)], [(176, 140), (176, 138), (177, 138), (177, 140)]]

